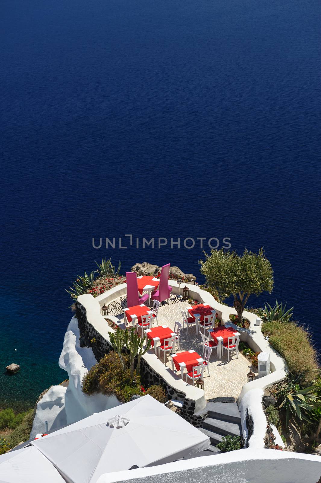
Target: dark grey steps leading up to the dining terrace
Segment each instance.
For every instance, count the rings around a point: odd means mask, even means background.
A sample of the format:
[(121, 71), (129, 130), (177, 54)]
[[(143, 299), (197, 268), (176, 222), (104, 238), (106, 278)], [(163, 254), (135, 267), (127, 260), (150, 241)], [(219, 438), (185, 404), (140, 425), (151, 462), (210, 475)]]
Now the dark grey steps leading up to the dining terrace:
[(211, 439), (208, 452), (220, 453), (216, 445), (223, 436), (241, 436), (241, 416), (236, 402), (208, 402), (205, 408), (208, 417), (204, 419), (200, 431)]

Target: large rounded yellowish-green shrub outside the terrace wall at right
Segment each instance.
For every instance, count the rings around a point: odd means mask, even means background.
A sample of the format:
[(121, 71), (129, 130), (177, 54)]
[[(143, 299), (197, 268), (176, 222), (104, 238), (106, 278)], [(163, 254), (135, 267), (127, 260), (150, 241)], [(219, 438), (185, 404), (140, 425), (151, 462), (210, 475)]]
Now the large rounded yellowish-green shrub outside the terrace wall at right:
[(308, 381), (316, 377), (320, 369), (317, 355), (311, 344), (311, 336), (304, 327), (295, 322), (274, 320), (262, 325), (262, 333), (268, 336), (271, 346), (284, 357), (294, 376), (303, 373)]

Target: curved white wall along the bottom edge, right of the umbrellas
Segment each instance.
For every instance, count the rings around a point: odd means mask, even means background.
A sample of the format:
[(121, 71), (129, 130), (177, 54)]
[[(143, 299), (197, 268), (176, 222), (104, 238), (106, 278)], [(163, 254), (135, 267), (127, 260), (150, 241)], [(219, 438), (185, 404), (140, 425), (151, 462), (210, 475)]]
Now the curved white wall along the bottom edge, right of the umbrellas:
[(316, 483), (320, 475), (320, 456), (246, 449), (108, 473), (97, 483)]

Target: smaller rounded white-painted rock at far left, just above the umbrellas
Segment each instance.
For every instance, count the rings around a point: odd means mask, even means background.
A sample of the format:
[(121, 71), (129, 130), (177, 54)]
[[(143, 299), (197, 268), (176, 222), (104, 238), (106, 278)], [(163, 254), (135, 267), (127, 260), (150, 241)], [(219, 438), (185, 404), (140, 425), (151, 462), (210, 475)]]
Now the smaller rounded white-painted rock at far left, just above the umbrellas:
[(48, 429), (57, 429), (67, 424), (65, 411), (65, 396), (67, 387), (51, 386), (46, 394), (37, 404), (37, 411), (33, 420), (30, 438), (34, 438), (36, 434), (46, 432), (46, 423)]

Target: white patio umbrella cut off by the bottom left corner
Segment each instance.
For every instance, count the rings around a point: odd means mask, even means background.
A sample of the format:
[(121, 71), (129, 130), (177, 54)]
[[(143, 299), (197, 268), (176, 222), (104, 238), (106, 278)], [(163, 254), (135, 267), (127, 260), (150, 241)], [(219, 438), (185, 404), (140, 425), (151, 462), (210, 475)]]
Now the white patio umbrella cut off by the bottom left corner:
[(0, 456), (0, 483), (65, 483), (54, 465), (33, 446)]

